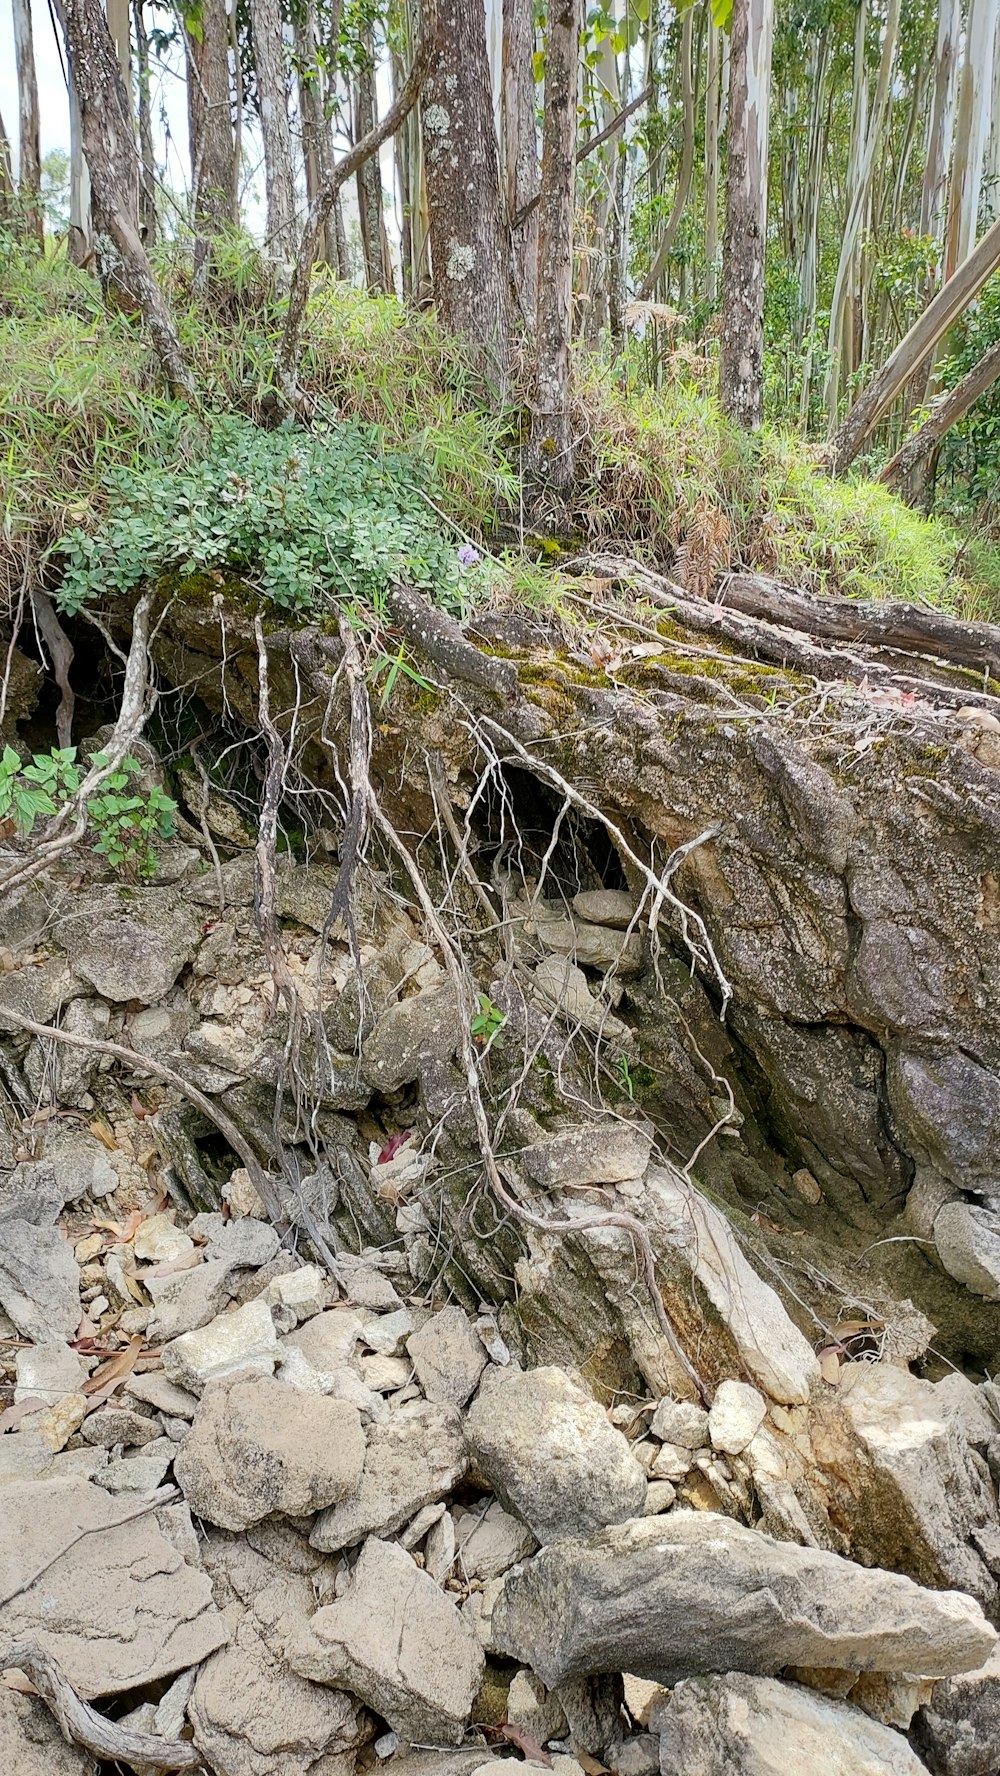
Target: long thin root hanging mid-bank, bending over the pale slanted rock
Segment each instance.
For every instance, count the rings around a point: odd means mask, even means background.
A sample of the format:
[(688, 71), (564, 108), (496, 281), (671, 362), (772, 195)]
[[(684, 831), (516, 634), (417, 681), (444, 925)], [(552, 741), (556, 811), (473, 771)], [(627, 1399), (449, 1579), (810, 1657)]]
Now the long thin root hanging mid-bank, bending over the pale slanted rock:
[[(343, 643), (343, 648), (345, 648), (345, 664), (346, 664), (346, 671), (348, 671), (348, 677), (350, 677), (352, 696), (353, 696), (355, 687), (361, 689), (361, 693), (364, 693), (364, 673), (362, 673), (361, 657), (359, 657), (359, 652), (357, 652), (357, 639), (355, 639), (350, 625), (346, 622), (341, 622), (339, 627), (341, 627), (341, 643)], [(641, 1272), (643, 1272), (643, 1280), (645, 1280), (647, 1289), (648, 1289), (648, 1296), (650, 1296), (650, 1302), (652, 1302), (652, 1309), (654, 1309), (657, 1325), (659, 1325), (659, 1328), (661, 1328), (666, 1343), (670, 1344), (670, 1350), (673, 1352), (677, 1362), (680, 1364), (680, 1368), (687, 1375), (689, 1382), (696, 1389), (698, 1398), (709, 1407), (710, 1401), (712, 1401), (712, 1396), (710, 1396), (709, 1389), (705, 1387), (702, 1376), (694, 1369), (691, 1359), (684, 1352), (684, 1348), (682, 1348), (682, 1344), (680, 1344), (680, 1341), (677, 1337), (677, 1332), (673, 1330), (673, 1327), (670, 1323), (666, 1307), (663, 1305), (663, 1295), (661, 1295), (659, 1282), (657, 1282), (657, 1277), (655, 1277), (655, 1254), (654, 1254), (654, 1249), (652, 1249), (652, 1241), (650, 1241), (648, 1231), (647, 1231), (647, 1227), (643, 1227), (641, 1220), (638, 1220), (636, 1215), (618, 1213), (615, 1209), (600, 1211), (597, 1215), (581, 1215), (579, 1220), (549, 1220), (544, 1215), (535, 1215), (533, 1209), (526, 1209), (524, 1204), (519, 1202), (517, 1197), (513, 1197), (510, 1193), (510, 1190), (506, 1188), (506, 1185), (503, 1181), (503, 1176), (501, 1176), (501, 1170), (499, 1170), (499, 1165), (497, 1165), (497, 1156), (496, 1156), (492, 1137), (490, 1137), (490, 1124), (488, 1124), (488, 1117), (487, 1117), (487, 1108), (483, 1105), (483, 1094), (480, 1090), (480, 1069), (476, 1066), (476, 1050), (472, 1046), (472, 1032), (471, 1032), (474, 998), (472, 998), (472, 991), (471, 991), (471, 986), (469, 986), (467, 970), (464, 966), (460, 952), (456, 950), (456, 945), (453, 943), (451, 936), (444, 929), (444, 924), (442, 924), (442, 920), (440, 920), (440, 916), (437, 913), (437, 908), (435, 908), (435, 904), (433, 904), (433, 900), (430, 897), (428, 886), (426, 886), (426, 883), (425, 883), (425, 879), (421, 876), (419, 865), (416, 863), (416, 860), (414, 860), (412, 852), (409, 851), (409, 847), (400, 838), (400, 835), (398, 835), (396, 828), (393, 826), (393, 822), (389, 821), (389, 817), (382, 812), (382, 806), (380, 806), (378, 797), (375, 794), (375, 789), (371, 785), (371, 776), (369, 776), (369, 771), (368, 771), (368, 760), (361, 760), (359, 751), (352, 749), (352, 776), (359, 769), (359, 765), (364, 771), (364, 778), (362, 778), (362, 781), (353, 780), (352, 781), (352, 789), (353, 789), (355, 796), (361, 794), (364, 797), (364, 803), (366, 803), (371, 824), (378, 828), (378, 831), (382, 833), (382, 836), (385, 838), (385, 842), (389, 844), (389, 847), (396, 852), (396, 856), (403, 863), (403, 867), (407, 870), (407, 876), (410, 877), (410, 883), (414, 886), (414, 893), (416, 893), (416, 897), (417, 897), (417, 900), (421, 904), (423, 913), (425, 913), (425, 918), (426, 918), (430, 929), (433, 931), (433, 936), (435, 936), (437, 943), (440, 945), (440, 952), (444, 955), (444, 961), (446, 961), (446, 966), (448, 966), (448, 973), (449, 973), (451, 984), (455, 987), (455, 996), (456, 996), (456, 1002), (458, 1002), (458, 1046), (460, 1046), (460, 1055), (462, 1055), (462, 1069), (465, 1073), (465, 1085), (467, 1085), (467, 1090), (469, 1090), (469, 1103), (472, 1105), (472, 1115), (474, 1115), (474, 1121), (476, 1121), (476, 1138), (478, 1138), (478, 1146), (480, 1146), (480, 1154), (481, 1154), (481, 1160), (483, 1160), (483, 1167), (485, 1167), (487, 1177), (490, 1181), (490, 1188), (499, 1197), (499, 1201), (504, 1204), (504, 1208), (510, 1211), (510, 1215), (515, 1217), (515, 1220), (526, 1222), (529, 1227), (536, 1227), (540, 1233), (547, 1233), (547, 1234), (551, 1234), (551, 1233), (586, 1233), (588, 1229), (595, 1229), (595, 1227), (602, 1227), (602, 1229), (604, 1227), (622, 1227), (627, 1234), (631, 1234), (632, 1243), (636, 1247), (636, 1252), (639, 1256), (639, 1266), (641, 1266)], [(581, 799), (581, 797), (577, 797), (577, 799)], [(586, 805), (586, 806), (590, 806), (590, 805)], [(659, 879), (654, 877), (654, 881), (657, 881), (657, 886), (659, 886)]]

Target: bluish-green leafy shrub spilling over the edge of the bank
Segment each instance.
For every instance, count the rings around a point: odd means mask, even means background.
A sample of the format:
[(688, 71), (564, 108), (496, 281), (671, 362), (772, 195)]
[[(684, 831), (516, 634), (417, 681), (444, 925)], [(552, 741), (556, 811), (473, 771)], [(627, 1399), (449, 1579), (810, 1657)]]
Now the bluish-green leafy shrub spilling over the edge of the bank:
[(130, 591), (146, 575), (234, 568), (268, 604), (378, 607), (393, 579), (455, 599), (455, 547), (428, 510), (414, 453), (382, 451), (371, 426), (261, 432), (236, 416), (204, 424), (197, 455), (112, 469), (110, 511), (59, 543), (60, 607)]

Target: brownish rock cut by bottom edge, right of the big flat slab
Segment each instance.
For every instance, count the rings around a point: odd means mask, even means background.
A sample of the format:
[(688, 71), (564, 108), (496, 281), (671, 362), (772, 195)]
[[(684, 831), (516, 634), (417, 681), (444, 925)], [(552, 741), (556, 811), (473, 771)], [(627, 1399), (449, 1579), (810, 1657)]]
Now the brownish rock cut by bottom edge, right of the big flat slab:
[(353, 1696), (291, 1671), (249, 1618), (201, 1668), (188, 1709), (217, 1776), (325, 1776), (336, 1753), (359, 1744), (357, 1712)]

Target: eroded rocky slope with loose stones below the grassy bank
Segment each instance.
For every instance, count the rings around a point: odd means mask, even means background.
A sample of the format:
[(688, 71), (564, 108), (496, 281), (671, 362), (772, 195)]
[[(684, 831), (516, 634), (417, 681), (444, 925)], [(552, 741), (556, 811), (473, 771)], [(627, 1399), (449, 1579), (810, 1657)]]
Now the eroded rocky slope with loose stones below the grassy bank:
[(25, 1776), (993, 1776), (1000, 723), (655, 590), (268, 636), (263, 749), (172, 607), (155, 883), (5, 840)]

